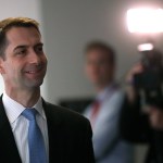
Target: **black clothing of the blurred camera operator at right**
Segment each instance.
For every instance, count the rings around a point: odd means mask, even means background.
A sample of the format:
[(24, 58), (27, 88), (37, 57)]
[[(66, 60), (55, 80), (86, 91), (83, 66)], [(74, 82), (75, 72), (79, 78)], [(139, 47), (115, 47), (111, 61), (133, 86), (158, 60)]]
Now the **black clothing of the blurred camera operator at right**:
[(124, 101), (121, 114), (122, 137), (134, 143), (149, 145), (146, 163), (163, 163), (163, 131), (153, 130), (148, 115), (141, 112), (140, 98), (129, 104), (127, 98)]

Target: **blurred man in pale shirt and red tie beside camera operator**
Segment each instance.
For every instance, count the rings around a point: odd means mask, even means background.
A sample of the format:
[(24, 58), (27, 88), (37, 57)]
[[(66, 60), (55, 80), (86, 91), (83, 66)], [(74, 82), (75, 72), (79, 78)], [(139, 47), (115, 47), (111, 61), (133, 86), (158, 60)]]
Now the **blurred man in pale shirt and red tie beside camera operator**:
[(91, 122), (97, 163), (131, 163), (133, 147), (120, 138), (120, 114), (123, 92), (115, 82), (116, 57), (104, 42), (86, 47), (86, 74), (97, 96), (84, 115)]

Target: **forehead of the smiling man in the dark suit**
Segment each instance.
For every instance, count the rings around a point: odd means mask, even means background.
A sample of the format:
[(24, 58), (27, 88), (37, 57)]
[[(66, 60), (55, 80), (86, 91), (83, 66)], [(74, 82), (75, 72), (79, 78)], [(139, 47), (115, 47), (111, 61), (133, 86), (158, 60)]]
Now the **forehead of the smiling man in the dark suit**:
[(35, 27), (12, 27), (7, 32), (9, 45), (33, 45), (40, 42), (41, 36)]

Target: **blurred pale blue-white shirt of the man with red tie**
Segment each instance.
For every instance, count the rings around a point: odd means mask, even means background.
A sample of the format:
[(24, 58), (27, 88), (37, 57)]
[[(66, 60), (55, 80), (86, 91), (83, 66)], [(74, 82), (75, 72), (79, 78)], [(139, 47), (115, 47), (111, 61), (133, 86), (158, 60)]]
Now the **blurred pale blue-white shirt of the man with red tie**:
[[(118, 122), (123, 99), (124, 93), (114, 84), (96, 97), (100, 101), (100, 110), (92, 126), (97, 163), (133, 162), (133, 147), (120, 138)], [(92, 104), (86, 109), (84, 115), (90, 120), (91, 113)]]

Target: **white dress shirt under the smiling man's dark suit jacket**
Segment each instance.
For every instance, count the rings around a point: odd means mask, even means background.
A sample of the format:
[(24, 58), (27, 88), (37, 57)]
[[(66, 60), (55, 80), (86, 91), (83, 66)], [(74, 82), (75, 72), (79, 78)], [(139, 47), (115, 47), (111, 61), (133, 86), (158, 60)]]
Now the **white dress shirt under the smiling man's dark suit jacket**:
[[(13, 99), (11, 99), (5, 92), (3, 93), (2, 101), (15, 138), (20, 156), (22, 159), (22, 163), (29, 163), (29, 151), (27, 139), (29, 121), (25, 118), (23, 115), (21, 115), (26, 108), (14, 101)], [(38, 111), (38, 114), (36, 115), (36, 121), (41, 130), (45, 140), (47, 156), (49, 158), (48, 126), (46, 114), (42, 108), (41, 97), (39, 98), (37, 103), (32, 108), (35, 108)]]

